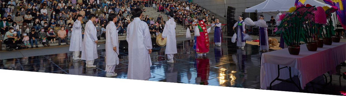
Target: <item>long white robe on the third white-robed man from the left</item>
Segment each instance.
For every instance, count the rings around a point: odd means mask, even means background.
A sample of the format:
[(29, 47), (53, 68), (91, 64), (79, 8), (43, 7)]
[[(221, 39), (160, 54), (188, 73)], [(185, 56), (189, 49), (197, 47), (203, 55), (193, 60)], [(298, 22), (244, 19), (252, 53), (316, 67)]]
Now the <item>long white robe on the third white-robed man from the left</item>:
[[(119, 47), (118, 47), (118, 31), (113, 21), (110, 21), (106, 26), (106, 65), (118, 65), (119, 64)], [(117, 47), (117, 53), (114, 52), (113, 47)]]

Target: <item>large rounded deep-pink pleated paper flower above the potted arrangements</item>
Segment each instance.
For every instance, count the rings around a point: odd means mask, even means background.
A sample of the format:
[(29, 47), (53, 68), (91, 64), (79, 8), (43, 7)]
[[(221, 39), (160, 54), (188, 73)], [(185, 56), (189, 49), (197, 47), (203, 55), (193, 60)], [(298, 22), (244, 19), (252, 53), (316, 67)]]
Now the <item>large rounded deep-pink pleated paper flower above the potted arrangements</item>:
[(326, 24), (327, 19), (326, 19), (326, 13), (322, 7), (317, 7), (317, 11), (314, 11), (315, 13), (315, 23), (318, 24)]

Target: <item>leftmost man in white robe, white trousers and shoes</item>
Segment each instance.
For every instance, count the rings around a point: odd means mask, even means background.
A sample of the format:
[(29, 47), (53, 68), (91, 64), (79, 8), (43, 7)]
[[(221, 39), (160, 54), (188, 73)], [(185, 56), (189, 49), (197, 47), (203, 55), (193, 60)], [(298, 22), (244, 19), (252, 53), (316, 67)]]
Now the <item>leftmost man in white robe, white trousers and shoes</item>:
[(72, 33), (71, 33), (71, 40), (70, 40), (70, 49), (69, 51), (73, 51), (73, 57), (74, 60), (80, 60), (79, 58), (79, 51), (82, 51), (82, 21), (83, 17), (82, 15), (77, 15), (77, 20), (74, 22), (72, 27)]

